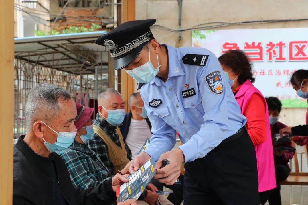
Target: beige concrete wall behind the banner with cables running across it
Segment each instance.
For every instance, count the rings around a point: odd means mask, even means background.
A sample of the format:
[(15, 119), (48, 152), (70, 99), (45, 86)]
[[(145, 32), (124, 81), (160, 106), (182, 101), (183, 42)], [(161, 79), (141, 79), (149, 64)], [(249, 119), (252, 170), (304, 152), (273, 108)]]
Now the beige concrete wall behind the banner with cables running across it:
[[(182, 29), (208, 22), (307, 18), (307, 8), (307, 0), (183, 0)], [(156, 25), (178, 30), (178, 13), (176, 0), (136, 0), (136, 20), (155, 18)], [(308, 27), (308, 21), (257, 23), (225, 26), (218, 29), (295, 27)], [(180, 41), (177, 32), (173, 33), (156, 28), (153, 28), (152, 32), (160, 43), (175, 47), (192, 45), (191, 30), (182, 32), (182, 40)], [(306, 108), (284, 108), (280, 120), (290, 126), (305, 124), (305, 115)]]

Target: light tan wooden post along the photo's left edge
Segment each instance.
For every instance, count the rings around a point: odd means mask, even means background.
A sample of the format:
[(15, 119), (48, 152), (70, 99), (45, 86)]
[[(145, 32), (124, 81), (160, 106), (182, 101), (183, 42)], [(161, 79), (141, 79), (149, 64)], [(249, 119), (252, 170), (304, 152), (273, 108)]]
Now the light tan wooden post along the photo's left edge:
[(12, 204), (14, 1), (0, 1), (0, 204)]

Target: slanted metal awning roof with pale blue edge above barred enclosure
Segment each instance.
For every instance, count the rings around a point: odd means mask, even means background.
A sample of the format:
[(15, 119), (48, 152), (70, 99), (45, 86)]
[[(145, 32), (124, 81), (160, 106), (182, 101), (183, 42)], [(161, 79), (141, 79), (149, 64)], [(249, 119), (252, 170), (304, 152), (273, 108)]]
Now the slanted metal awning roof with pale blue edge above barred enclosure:
[(15, 58), (68, 73), (89, 75), (107, 69), (108, 50), (95, 40), (106, 34), (96, 31), (14, 39)]

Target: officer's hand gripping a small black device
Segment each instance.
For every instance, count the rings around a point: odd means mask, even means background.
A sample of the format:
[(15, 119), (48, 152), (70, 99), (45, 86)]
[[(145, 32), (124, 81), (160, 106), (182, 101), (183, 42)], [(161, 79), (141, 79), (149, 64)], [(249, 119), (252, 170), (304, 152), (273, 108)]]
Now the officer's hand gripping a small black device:
[[(168, 160), (169, 164), (166, 165), (164, 168), (160, 169), (163, 159)], [(174, 150), (171, 150), (169, 152), (160, 155), (160, 158), (155, 165), (155, 169), (157, 170), (156, 170), (156, 175), (154, 175), (154, 178), (158, 179), (158, 181), (161, 183), (174, 184), (176, 179), (181, 174), (181, 165), (184, 161), (185, 161), (184, 154), (182, 150), (179, 148), (176, 148)]]

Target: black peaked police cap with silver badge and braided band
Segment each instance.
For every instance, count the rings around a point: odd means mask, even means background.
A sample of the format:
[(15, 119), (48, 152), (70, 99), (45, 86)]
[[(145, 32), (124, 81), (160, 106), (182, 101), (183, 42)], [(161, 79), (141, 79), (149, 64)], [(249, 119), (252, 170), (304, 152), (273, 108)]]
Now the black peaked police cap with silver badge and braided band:
[(95, 43), (110, 51), (115, 70), (123, 69), (136, 59), (144, 44), (152, 39), (150, 26), (155, 22), (156, 19), (125, 22), (99, 37)]

